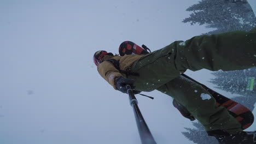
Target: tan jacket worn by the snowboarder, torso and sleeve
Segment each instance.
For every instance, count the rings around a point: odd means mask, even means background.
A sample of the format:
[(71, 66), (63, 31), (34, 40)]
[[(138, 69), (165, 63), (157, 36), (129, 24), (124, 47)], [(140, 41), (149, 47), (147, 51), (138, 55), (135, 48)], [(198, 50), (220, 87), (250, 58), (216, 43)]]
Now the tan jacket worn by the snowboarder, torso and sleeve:
[(107, 60), (110, 58), (116, 59), (119, 61), (119, 67), (121, 70), (126, 70), (130, 68), (133, 62), (138, 61), (139, 58), (141, 58), (142, 55), (125, 55), (125, 56), (108, 56), (105, 55), (103, 57), (103, 62), (100, 63), (97, 67), (98, 73), (110, 84), (114, 87), (114, 89), (117, 89), (115, 86), (115, 78), (122, 75), (118, 69), (114, 67), (114, 65), (111, 62), (108, 62)]

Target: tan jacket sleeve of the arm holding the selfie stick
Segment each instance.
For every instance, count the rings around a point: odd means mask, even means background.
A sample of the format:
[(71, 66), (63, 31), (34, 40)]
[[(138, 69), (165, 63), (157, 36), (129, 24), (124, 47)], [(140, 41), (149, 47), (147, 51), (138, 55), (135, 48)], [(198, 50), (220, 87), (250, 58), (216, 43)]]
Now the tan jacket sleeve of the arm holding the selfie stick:
[(97, 67), (98, 73), (110, 84), (117, 89), (115, 86), (115, 78), (123, 76), (119, 73), (119, 70), (114, 67), (114, 65), (108, 61), (102, 62)]

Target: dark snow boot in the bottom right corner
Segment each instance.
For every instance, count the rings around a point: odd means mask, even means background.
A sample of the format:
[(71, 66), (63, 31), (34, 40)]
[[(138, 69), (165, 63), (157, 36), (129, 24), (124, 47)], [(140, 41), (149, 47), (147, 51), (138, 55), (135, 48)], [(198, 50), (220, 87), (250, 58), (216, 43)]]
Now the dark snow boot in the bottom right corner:
[(237, 134), (216, 136), (220, 144), (255, 144), (256, 131), (240, 131)]

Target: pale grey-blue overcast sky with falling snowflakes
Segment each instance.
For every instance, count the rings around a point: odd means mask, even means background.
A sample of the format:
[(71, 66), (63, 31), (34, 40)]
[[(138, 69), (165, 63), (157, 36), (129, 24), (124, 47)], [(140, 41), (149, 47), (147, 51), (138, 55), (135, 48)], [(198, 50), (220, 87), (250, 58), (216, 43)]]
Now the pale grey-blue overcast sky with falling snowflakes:
[[(197, 0), (0, 1), (0, 143), (140, 143), (126, 94), (97, 73), (97, 50), (130, 40), (158, 50), (210, 30), (181, 21)], [(204, 82), (210, 71), (186, 74)], [(137, 97), (158, 143), (192, 127), (154, 91)]]

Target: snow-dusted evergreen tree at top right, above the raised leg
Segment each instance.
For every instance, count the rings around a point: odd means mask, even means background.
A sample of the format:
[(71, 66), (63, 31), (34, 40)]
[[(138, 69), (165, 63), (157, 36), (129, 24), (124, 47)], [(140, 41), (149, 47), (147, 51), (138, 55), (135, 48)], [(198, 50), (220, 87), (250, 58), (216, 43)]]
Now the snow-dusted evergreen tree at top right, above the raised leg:
[(193, 11), (183, 20), (191, 25), (198, 23), (207, 28), (217, 29), (206, 34), (234, 30), (249, 31), (256, 26), (256, 17), (251, 6), (244, 0), (202, 0), (187, 9)]

